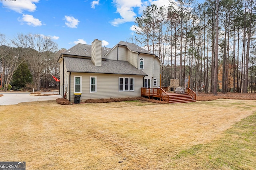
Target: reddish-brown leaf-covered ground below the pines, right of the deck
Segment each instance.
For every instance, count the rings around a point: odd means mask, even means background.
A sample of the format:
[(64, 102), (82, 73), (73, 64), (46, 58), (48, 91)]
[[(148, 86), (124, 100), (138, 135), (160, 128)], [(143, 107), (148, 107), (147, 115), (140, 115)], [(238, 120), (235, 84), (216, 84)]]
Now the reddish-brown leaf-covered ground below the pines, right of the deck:
[(218, 93), (217, 96), (214, 96), (213, 93), (198, 93), (196, 96), (197, 101), (210, 101), (216, 99), (239, 99), (239, 100), (256, 100), (256, 93), (231, 93), (228, 92), (223, 94)]

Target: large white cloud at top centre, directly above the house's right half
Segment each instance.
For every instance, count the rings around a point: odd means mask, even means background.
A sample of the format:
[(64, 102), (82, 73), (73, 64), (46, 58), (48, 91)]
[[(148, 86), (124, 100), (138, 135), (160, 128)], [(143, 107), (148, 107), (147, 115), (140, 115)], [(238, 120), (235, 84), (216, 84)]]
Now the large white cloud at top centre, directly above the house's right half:
[(111, 21), (113, 26), (125, 22), (132, 22), (135, 20), (137, 14), (134, 12), (134, 8), (144, 8), (146, 4), (143, 4), (141, 0), (114, 0), (116, 6), (116, 12), (120, 14), (121, 18), (115, 18)]

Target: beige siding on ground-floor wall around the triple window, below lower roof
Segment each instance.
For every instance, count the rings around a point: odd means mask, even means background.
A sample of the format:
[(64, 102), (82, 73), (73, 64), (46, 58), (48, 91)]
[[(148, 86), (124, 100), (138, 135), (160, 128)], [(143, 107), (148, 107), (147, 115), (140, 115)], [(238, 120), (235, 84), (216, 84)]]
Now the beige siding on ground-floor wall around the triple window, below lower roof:
[[(106, 98), (127, 98), (140, 97), (140, 89), (143, 87), (143, 76), (118, 75), (118, 74), (89, 74), (72, 73), (70, 83), (70, 101), (74, 102), (74, 76), (82, 76), (82, 95), (81, 102), (87, 99), (106, 99)], [(97, 92), (90, 93), (90, 76), (97, 77)], [(119, 77), (134, 78), (134, 91), (119, 92)]]

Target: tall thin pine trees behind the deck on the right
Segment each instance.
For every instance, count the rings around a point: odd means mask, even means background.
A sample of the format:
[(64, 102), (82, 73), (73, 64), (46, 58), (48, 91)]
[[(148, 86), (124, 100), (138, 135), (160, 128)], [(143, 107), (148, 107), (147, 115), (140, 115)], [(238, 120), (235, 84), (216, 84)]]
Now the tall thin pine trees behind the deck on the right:
[(160, 57), (163, 86), (190, 77), (194, 90), (246, 93), (256, 82), (255, 14), (254, 0), (170, 0), (136, 18), (135, 41)]

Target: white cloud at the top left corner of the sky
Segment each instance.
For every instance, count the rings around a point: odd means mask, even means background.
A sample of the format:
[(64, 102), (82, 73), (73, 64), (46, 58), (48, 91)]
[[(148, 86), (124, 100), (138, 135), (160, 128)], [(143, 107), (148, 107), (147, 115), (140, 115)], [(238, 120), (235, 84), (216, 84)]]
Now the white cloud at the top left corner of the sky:
[(23, 11), (34, 12), (36, 10), (36, 5), (34, 3), (39, 2), (39, 0), (2, 0), (3, 6), (10, 10), (14, 10), (18, 13)]

